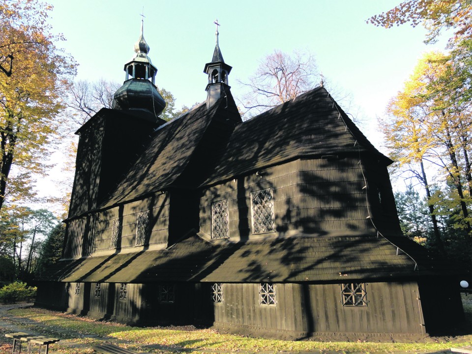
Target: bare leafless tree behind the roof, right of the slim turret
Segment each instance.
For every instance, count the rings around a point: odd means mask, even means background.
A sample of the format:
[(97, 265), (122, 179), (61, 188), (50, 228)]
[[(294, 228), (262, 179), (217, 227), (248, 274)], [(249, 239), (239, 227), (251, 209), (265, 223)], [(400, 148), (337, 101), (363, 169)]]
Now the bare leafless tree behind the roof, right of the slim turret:
[(259, 62), (247, 83), (240, 82), (249, 89), (242, 99), (243, 107), (247, 111), (275, 107), (315, 88), (318, 77), (311, 53), (294, 51), (289, 55), (275, 50)]

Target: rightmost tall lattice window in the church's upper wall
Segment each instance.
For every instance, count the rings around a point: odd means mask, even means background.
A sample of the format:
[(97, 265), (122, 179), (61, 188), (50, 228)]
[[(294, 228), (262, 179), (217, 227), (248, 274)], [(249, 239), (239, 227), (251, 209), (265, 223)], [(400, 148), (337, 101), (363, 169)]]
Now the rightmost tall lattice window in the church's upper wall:
[(274, 198), (272, 190), (263, 189), (251, 193), (252, 232), (274, 232)]

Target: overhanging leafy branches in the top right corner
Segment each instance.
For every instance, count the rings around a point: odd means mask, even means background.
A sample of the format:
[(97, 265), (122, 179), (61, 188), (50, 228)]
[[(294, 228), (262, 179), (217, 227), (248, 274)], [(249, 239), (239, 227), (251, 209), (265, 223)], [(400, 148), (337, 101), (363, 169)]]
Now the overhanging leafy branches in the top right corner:
[(425, 42), (434, 42), (443, 29), (454, 29), (453, 39), (472, 39), (471, 0), (407, 0), (391, 10), (374, 15), (366, 21), (375, 26), (422, 24), (427, 30)]

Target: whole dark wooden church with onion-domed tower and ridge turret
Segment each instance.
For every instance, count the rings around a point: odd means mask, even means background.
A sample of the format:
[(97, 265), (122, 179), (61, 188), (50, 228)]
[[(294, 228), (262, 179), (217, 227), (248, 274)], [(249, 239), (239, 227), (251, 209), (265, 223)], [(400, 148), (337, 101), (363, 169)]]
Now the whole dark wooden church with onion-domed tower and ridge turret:
[(35, 305), (291, 339), (460, 320), (451, 266), (401, 233), (392, 161), (323, 86), (242, 121), (216, 38), (206, 102), (165, 122), (141, 35), (114, 108), (77, 131), (63, 257)]

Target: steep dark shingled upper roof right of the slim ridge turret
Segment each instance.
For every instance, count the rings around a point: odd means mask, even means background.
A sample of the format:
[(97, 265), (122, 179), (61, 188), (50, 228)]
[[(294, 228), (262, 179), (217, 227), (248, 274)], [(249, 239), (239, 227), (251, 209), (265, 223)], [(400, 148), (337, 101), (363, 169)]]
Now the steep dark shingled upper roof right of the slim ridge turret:
[(379, 152), (319, 87), (236, 126), (204, 185), (303, 156)]

